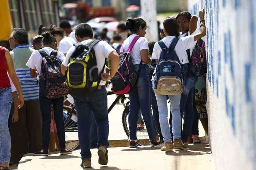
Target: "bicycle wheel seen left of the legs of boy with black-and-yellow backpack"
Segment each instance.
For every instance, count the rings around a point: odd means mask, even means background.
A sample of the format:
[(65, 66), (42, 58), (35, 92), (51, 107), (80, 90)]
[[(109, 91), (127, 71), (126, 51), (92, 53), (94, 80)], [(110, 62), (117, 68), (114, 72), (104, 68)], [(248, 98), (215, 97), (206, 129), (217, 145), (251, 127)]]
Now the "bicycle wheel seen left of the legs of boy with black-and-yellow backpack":
[(78, 124), (75, 109), (69, 106), (64, 106), (63, 117), (65, 124), (66, 149), (78, 149)]

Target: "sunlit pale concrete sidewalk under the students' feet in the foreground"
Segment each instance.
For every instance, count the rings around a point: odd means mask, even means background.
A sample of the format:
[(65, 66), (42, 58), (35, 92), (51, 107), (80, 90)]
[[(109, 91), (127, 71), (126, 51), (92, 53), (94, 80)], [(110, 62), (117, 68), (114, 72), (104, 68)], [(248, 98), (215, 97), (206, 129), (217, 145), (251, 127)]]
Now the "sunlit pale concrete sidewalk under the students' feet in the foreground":
[[(92, 167), (106, 170), (213, 170), (214, 165), (208, 144), (189, 145), (189, 149), (163, 152), (150, 146), (138, 148), (109, 148), (107, 166), (98, 164), (97, 149), (92, 149)], [(18, 170), (79, 170), (80, 150), (70, 155), (53, 153), (48, 157), (25, 155)]]

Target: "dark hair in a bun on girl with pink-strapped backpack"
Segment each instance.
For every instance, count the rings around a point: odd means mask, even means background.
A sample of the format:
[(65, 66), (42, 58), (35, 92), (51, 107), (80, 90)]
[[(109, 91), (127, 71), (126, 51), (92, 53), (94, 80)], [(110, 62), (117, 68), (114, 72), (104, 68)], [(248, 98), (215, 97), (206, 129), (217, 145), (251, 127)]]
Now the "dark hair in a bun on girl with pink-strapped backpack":
[(131, 33), (137, 33), (139, 31), (139, 28), (145, 28), (147, 26), (147, 23), (142, 18), (134, 18), (128, 19), (125, 25), (131, 31)]

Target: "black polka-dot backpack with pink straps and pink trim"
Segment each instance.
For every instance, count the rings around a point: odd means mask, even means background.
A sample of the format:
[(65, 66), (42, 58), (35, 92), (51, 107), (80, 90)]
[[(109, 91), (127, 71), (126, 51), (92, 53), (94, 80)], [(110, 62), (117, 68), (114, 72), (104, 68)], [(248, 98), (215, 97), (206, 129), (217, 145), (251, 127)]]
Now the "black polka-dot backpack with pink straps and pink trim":
[(130, 51), (132, 50), (134, 44), (139, 38), (140, 36), (136, 36), (133, 38), (126, 52), (123, 52), (123, 45), (121, 47), (119, 54), (119, 66), (117, 68), (115, 76), (113, 77), (113, 79), (111, 79), (112, 91), (116, 95), (127, 94), (130, 92), (132, 87), (136, 85), (137, 74), (133, 68)]

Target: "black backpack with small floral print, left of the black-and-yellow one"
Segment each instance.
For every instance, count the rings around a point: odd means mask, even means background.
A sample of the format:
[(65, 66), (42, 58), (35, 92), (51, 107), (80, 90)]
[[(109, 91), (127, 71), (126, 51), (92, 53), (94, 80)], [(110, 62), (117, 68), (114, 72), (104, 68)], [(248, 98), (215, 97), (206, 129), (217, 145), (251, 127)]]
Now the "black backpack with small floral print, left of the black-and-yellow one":
[(39, 75), (41, 95), (49, 99), (68, 95), (68, 87), (65, 84), (66, 76), (62, 75), (61, 62), (56, 57), (58, 51), (53, 50), (50, 55), (44, 49), (38, 52), (43, 57), (41, 75)]

